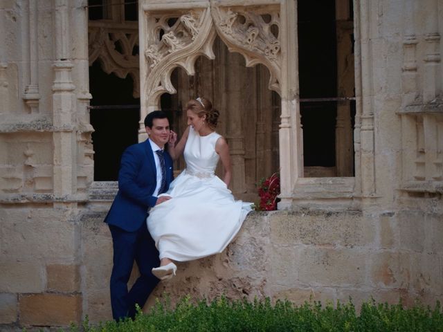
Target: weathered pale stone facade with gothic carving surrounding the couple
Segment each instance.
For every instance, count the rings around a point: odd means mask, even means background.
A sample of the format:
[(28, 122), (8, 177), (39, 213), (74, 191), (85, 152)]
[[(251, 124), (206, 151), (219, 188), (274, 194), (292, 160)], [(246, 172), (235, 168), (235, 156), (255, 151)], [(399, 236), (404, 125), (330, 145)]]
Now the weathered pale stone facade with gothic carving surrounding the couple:
[[(120, 75), (139, 78), (141, 119), (163, 93), (175, 92), (174, 68), (193, 74), (197, 57), (226, 54), (214, 52), (216, 38), (247, 66), (269, 72), (258, 90), (278, 93), (281, 110), (280, 211), (253, 212), (221, 255), (179, 264), (177, 278), (159, 284), (148, 304), (164, 291), (173, 300), (188, 293), (296, 303), (442, 299), (442, 0), (354, 1), (354, 70), (337, 65), (345, 91), (354, 80), (354, 163), (345, 153), (351, 140), (342, 109), (343, 172), (334, 177), (310, 177), (303, 167), (295, 0), (139, 2), (141, 74), (125, 48), (126, 62), (109, 60), (108, 69), (124, 67)], [(349, 15), (344, 3), (336, 1), (338, 18)], [(164, 17), (180, 21), (159, 38), (153, 32)], [(344, 21), (338, 24), (349, 33)], [(134, 43), (130, 33), (105, 37), (97, 24), (102, 44)], [(109, 320), (112, 246), (102, 220), (116, 184), (93, 181), (87, 1), (0, 1), (0, 45), (0, 328), (67, 326), (85, 315)], [(348, 47), (338, 46), (342, 53)], [(224, 82), (242, 78), (231, 67), (220, 64)], [(269, 96), (263, 92), (257, 104), (270, 104)], [(241, 106), (238, 98), (233, 102)], [(272, 122), (257, 114), (257, 129)], [(229, 117), (242, 120), (240, 112)], [(225, 129), (233, 190), (241, 192), (254, 143), (241, 127)], [(259, 145), (274, 129), (260, 130)], [(256, 165), (269, 163), (260, 151)], [(354, 176), (347, 176), (350, 168)]]

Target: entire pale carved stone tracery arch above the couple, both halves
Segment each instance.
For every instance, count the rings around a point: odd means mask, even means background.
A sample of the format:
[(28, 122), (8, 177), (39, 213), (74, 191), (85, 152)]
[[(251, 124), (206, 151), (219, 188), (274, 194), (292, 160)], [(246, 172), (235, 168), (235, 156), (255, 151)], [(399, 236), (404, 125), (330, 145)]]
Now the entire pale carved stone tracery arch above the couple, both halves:
[(145, 10), (145, 104), (156, 107), (163, 93), (176, 93), (170, 82), (180, 66), (194, 75), (201, 55), (214, 59), (213, 42), (218, 35), (231, 52), (244, 55), (246, 66), (264, 64), (271, 78), (269, 89), (280, 93), (280, 6), (223, 7), (219, 3), (186, 11)]

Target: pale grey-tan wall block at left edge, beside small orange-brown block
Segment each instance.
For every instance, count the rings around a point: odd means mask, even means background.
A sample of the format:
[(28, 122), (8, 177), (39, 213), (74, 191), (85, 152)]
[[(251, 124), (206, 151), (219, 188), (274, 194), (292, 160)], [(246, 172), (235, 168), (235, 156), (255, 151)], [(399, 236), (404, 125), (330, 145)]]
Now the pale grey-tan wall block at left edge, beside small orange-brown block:
[(0, 261), (0, 293), (38, 293), (46, 278), (39, 261)]

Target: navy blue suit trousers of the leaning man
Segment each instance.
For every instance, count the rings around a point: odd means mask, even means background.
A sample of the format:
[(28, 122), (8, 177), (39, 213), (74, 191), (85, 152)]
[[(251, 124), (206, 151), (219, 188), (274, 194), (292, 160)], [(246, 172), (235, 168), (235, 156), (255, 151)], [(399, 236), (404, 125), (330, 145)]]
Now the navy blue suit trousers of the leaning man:
[[(138, 304), (143, 308), (147, 297), (159, 283), (152, 275), (152, 268), (160, 265), (159, 251), (147, 230), (145, 222), (135, 232), (127, 232), (115, 225), (109, 225), (114, 248), (114, 266), (111, 273), (111, 307), (114, 320), (130, 317), (134, 319)], [(140, 277), (130, 291), (127, 282), (136, 261)]]

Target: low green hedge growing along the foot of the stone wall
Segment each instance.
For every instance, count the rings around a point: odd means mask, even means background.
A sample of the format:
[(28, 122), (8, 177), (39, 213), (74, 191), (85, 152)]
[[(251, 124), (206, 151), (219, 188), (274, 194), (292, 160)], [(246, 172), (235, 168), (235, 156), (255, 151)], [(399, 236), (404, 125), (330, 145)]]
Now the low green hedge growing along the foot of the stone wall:
[(249, 302), (229, 301), (225, 297), (213, 302), (192, 302), (185, 297), (172, 308), (170, 302), (157, 302), (150, 313), (138, 311), (136, 319), (105, 322), (90, 326), (72, 326), (72, 331), (85, 332), (149, 332), (149, 331), (429, 331), (443, 332), (440, 302), (435, 308), (417, 304), (405, 308), (400, 304), (366, 302), (357, 315), (352, 302), (336, 306), (320, 302), (305, 302), (294, 306), (289, 301), (271, 304), (269, 298)]

